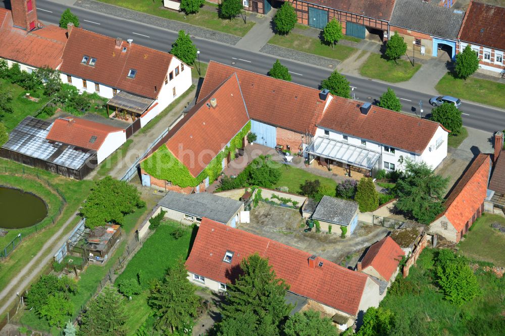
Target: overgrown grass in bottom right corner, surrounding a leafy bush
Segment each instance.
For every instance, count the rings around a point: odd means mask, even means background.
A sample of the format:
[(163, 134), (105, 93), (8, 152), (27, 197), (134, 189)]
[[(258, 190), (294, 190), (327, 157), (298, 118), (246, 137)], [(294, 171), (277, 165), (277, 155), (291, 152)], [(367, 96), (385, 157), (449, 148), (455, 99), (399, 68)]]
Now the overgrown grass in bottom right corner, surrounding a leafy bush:
[[(438, 325), (442, 335), (498, 335), (496, 329), (502, 330), (503, 327), (505, 278), (498, 279), (494, 274), (478, 269), (476, 275), (482, 293), (462, 306), (451, 304), (443, 298), (434, 281), (436, 251), (426, 248), (406, 278), (419, 293), (399, 295), (388, 291), (380, 306), (390, 309), (406, 324), (406, 330), (412, 330), (412, 334), (419, 334), (414, 330), (424, 330), (423, 335), (436, 334), (428, 332), (427, 328), (428, 325)], [(409, 322), (416, 328), (409, 326)], [(501, 328), (496, 328), (500, 324)]]

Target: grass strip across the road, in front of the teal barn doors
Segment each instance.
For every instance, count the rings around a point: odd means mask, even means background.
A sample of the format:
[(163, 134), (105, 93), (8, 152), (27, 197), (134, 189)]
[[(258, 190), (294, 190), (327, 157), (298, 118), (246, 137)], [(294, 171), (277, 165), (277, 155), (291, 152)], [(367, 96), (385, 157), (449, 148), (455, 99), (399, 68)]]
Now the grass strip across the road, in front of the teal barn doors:
[(313, 53), (315, 55), (339, 61), (345, 60), (357, 50), (340, 44), (336, 44), (334, 48), (332, 48), (327, 44), (323, 44), (319, 38), (308, 37), (295, 33), (290, 33), (288, 35), (274, 35), (268, 43), (284, 48)]

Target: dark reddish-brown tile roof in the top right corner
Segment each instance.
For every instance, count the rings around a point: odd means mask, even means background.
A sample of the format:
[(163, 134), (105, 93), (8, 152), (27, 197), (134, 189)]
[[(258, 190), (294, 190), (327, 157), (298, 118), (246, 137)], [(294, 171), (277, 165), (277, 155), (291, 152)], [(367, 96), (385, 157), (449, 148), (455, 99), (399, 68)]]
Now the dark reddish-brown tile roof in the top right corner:
[(470, 2), (458, 38), (505, 50), (505, 8)]

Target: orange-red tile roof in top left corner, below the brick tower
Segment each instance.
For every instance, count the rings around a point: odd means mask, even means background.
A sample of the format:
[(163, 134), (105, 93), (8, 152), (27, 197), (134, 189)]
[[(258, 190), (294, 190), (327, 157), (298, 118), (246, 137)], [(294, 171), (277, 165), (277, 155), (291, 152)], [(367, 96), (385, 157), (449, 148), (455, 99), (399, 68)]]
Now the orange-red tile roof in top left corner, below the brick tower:
[(13, 26), (11, 11), (0, 8), (0, 57), (32, 67), (56, 69), (62, 63), (66, 30), (46, 26), (27, 32)]

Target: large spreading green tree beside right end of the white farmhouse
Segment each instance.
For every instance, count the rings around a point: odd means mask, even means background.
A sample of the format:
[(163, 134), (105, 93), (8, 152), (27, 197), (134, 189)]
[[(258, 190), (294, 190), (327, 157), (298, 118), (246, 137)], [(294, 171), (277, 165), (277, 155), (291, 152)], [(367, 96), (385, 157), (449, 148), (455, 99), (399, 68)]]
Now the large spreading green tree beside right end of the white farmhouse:
[(406, 160), (405, 174), (396, 182), (395, 209), (421, 223), (431, 223), (444, 210), (448, 181), (435, 175), (426, 162)]

